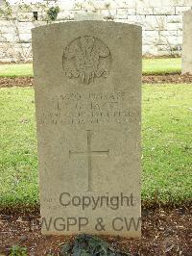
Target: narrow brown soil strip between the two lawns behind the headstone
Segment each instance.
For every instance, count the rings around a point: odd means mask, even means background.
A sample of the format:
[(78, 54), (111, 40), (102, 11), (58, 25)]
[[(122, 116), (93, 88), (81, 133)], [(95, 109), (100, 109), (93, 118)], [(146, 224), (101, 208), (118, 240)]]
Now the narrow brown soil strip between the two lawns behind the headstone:
[[(143, 75), (144, 84), (192, 84), (192, 75), (189, 74), (164, 74), (164, 75)], [(33, 87), (32, 77), (0, 77), (0, 88), (11, 87)]]

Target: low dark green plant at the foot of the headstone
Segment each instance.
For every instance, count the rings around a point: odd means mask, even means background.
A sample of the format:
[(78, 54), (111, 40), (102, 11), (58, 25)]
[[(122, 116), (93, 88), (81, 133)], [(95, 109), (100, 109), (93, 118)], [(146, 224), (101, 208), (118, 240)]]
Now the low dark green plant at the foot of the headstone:
[(129, 256), (111, 247), (104, 240), (91, 235), (79, 235), (74, 243), (65, 243), (60, 249), (60, 256)]

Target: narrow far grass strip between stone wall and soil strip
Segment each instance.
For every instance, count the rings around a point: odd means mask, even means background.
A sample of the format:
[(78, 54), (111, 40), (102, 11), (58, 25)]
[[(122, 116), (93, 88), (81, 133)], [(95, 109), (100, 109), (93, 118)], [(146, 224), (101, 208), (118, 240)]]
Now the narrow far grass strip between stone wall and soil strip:
[[(176, 73), (181, 70), (180, 58), (143, 59), (144, 74)], [(0, 77), (33, 76), (32, 64), (0, 64)]]

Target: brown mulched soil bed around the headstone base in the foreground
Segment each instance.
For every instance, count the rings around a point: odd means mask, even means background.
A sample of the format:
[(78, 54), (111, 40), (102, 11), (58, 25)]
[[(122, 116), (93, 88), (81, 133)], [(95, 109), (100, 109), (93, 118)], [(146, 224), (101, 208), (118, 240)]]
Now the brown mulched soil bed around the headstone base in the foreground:
[[(105, 237), (115, 248), (132, 256), (191, 256), (192, 218), (190, 209), (143, 210), (142, 238)], [(59, 255), (60, 243), (73, 240), (66, 236), (42, 236), (39, 214), (0, 215), (0, 255), (8, 255), (13, 244), (28, 248), (29, 255)]]

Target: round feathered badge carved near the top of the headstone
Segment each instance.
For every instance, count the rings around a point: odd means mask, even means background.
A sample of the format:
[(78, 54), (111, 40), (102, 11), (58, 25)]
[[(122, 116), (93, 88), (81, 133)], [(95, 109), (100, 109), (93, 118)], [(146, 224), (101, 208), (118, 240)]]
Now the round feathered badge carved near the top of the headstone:
[(84, 36), (71, 41), (64, 49), (62, 66), (69, 78), (80, 78), (89, 84), (99, 77), (108, 77), (110, 51), (99, 38)]

